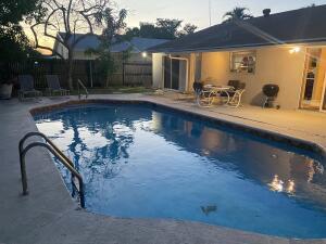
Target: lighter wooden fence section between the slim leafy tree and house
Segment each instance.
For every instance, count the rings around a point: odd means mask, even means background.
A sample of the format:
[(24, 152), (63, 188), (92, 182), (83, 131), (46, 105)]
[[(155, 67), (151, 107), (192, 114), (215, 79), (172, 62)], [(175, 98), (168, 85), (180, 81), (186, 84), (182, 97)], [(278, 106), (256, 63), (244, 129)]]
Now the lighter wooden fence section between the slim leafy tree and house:
[(123, 85), (152, 86), (151, 63), (123, 63)]

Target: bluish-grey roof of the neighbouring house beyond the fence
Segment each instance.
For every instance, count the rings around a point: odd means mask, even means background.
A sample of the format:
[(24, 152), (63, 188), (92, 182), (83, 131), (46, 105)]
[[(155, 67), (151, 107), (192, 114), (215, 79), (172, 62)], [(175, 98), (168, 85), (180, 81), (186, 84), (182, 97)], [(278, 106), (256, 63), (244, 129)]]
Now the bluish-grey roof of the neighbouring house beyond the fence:
[[(60, 33), (61, 37), (64, 37), (64, 33)], [(75, 38), (79, 38), (84, 34), (75, 34)], [(111, 47), (111, 52), (123, 52), (127, 51), (129, 48), (131, 48), (131, 52), (138, 53), (142, 52), (149, 48), (152, 48), (158, 44), (162, 44), (167, 42), (168, 40), (165, 39), (153, 39), (153, 38), (140, 38), (140, 37), (134, 37), (129, 41), (122, 41), (116, 42)], [(97, 48), (100, 44), (99, 36), (97, 35), (89, 35), (85, 38), (83, 38), (75, 47), (75, 50), (77, 51), (85, 51), (89, 48)]]

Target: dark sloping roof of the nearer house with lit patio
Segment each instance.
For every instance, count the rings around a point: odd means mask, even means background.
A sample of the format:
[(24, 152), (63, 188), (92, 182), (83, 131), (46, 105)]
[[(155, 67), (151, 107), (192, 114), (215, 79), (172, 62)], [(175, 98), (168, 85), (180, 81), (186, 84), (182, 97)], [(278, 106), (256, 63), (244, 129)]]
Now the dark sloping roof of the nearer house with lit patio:
[(326, 5), (212, 26), (153, 48), (150, 52), (189, 52), (326, 41)]

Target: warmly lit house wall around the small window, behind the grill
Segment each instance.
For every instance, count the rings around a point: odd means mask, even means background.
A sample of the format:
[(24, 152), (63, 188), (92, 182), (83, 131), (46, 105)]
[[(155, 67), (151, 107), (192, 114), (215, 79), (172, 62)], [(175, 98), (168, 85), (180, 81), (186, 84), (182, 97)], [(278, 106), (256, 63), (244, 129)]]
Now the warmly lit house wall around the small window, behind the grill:
[(304, 70), (305, 51), (289, 53), (289, 48), (262, 48), (256, 50), (254, 74), (231, 73), (229, 52), (210, 52), (202, 54), (202, 80), (213, 80), (226, 85), (238, 79), (246, 82), (243, 103), (261, 105), (265, 84), (277, 84), (279, 94), (277, 104), (283, 108), (298, 108)]

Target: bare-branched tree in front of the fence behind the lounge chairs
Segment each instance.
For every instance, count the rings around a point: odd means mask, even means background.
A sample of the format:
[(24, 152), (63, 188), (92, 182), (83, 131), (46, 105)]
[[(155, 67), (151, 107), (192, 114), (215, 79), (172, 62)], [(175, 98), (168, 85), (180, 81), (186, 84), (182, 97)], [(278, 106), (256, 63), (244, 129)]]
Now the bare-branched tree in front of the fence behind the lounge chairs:
[[(74, 50), (78, 42), (87, 36), (95, 35), (102, 26), (103, 16), (109, 8), (109, 0), (43, 0), (42, 7), (47, 14), (41, 20), (35, 20), (30, 29), (35, 39), (35, 47), (50, 50), (53, 54), (64, 59), (50, 47), (42, 46), (40, 38), (47, 38), (61, 43), (67, 50), (67, 80), (73, 89)], [(64, 33), (63, 36), (57, 33)], [(76, 35), (84, 33), (85, 35)]]

